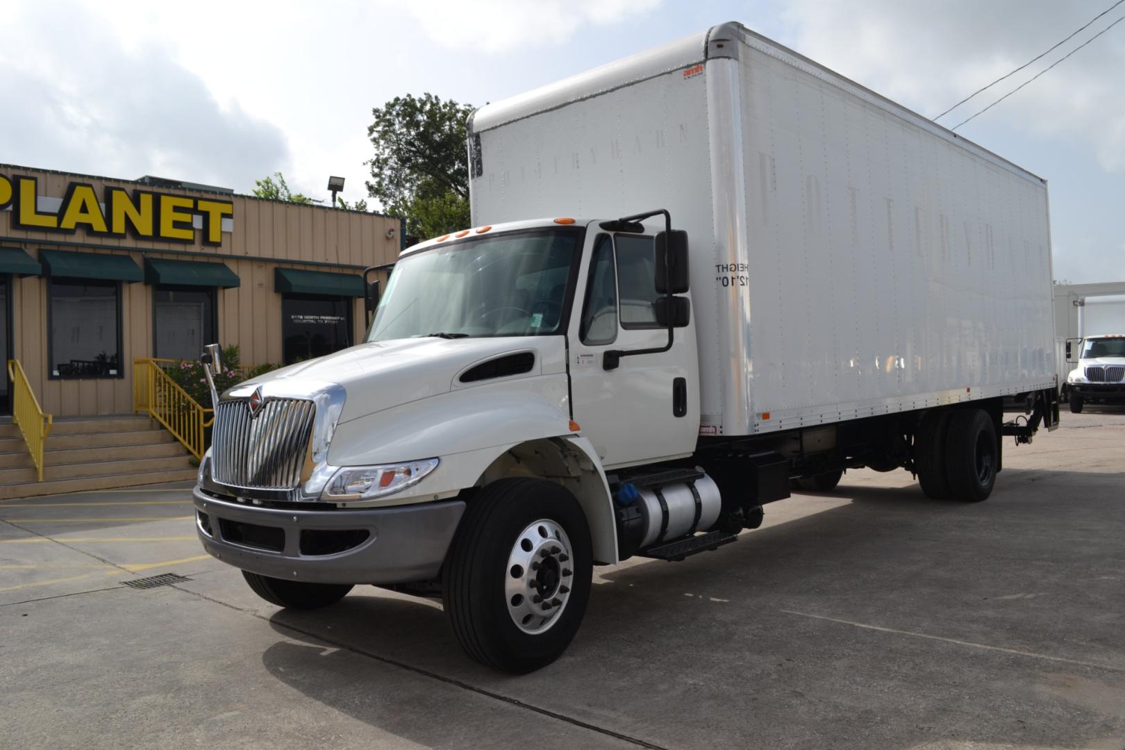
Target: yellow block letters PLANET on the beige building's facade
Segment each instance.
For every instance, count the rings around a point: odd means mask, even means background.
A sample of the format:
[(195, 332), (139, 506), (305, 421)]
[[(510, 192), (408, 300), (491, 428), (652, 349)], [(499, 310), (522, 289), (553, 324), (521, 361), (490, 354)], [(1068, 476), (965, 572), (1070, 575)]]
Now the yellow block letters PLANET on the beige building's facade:
[(223, 243), (223, 220), (234, 216), (234, 204), (219, 198), (194, 198), (148, 190), (107, 187), (101, 200), (93, 186), (71, 182), (56, 213), (40, 210), (34, 177), (0, 174), (0, 210), (11, 208), (11, 226), (28, 232), (83, 229), (105, 237), (160, 242), (196, 242), (195, 218), (205, 245)]

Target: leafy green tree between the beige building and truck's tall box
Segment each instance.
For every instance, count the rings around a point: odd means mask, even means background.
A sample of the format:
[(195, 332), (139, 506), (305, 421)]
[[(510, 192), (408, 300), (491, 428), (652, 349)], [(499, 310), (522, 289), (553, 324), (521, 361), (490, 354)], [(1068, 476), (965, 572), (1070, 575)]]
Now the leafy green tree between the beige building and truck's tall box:
[(392, 216), (406, 217), (406, 234), (426, 238), (469, 226), (465, 125), (471, 111), (432, 93), (395, 97), (371, 110), (367, 192)]

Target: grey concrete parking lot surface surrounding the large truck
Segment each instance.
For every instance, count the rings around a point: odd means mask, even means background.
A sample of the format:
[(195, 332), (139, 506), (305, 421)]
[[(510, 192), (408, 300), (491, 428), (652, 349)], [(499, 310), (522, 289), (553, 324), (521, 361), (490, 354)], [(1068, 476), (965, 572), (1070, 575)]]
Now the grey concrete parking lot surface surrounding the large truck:
[[(429, 600), (258, 599), (183, 485), (8, 500), (0, 747), (1120, 750), (1123, 490), (1125, 409), (1007, 449), (980, 505), (849, 472), (737, 544), (598, 569), (569, 651), (518, 678)], [(161, 573), (187, 580), (125, 585)]]

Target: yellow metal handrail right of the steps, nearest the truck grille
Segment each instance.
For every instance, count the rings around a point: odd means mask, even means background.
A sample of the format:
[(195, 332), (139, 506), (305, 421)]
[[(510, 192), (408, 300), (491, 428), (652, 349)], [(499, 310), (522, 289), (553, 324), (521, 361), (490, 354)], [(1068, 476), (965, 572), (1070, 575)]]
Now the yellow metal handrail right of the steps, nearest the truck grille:
[(214, 409), (205, 408), (180, 385), (168, 377), (163, 362), (138, 356), (133, 360), (133, 412), (145, 412), (164, 425), (197, 459), (207, 450), (207, 427), (215, 421)]

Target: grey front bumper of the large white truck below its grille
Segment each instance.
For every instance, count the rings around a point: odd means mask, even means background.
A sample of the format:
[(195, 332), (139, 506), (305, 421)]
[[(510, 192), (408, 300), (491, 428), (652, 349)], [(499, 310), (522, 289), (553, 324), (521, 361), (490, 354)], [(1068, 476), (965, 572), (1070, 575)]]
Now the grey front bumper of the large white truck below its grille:
[(436, 578), (465, 513), (464, 500), (290, 510), (218, 498), (199, 487), (192, 497), (196, 531), (208, 553), (262, 576), (318, 584)]

